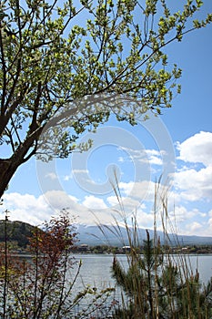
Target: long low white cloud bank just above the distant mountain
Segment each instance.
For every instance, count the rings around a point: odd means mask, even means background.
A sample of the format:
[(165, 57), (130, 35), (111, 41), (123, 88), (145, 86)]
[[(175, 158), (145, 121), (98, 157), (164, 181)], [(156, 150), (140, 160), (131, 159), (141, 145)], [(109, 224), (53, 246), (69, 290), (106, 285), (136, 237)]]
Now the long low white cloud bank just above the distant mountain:
[[(107, 207), (106, 201), (112, 207)], [(94, 225), (96, 221), (106, 224), (113, 223), (114, 219), (122, 221), (123, 214), (118, 209), (118, 206), (116, 206), (116, 196), (109, 196), (106, 201), (92, 195), (86, 196), (84, 201), (80, 203), (76, 197), (67, 195), (60, 190), (48, 191), (38, 198), (30, 194), (6, 193), (3, 211), (5, 209), (10, 211), (9, 218), (12, 221), (26, 221), (38, 225), (45, 220), (49, 220), (51, 216), (56, 215), (64, 208), (67, 208), (71, 217), (76, 217), (76, 222)], [(153, 201), (153, 197), (151, 201)], [(152, 205), (151, 202), (148, 203), (147, 207), (146, 202), (140, 203), (136, 199), (126, 197), (123, 198), (123, 204), (125, 216), (129, 221), (130, 216), (136, 214), (136, 222), (139, 227), (153, 228), (154, 214), (151, 208), (149, 209)], [(161, 208), (158, 208), (156, 215), (157, 230), (163, 229), (160, 212)], [(168, 207), (168, 218), (168, 222), (171, 222), (169, 232), (172, 232), (172, 227), (177, 224), (178, 234), (211, 236), (212, 211), (206, 212), (199, 209), (188, 209), (186, 205), (177, 204), (175, 211)]]

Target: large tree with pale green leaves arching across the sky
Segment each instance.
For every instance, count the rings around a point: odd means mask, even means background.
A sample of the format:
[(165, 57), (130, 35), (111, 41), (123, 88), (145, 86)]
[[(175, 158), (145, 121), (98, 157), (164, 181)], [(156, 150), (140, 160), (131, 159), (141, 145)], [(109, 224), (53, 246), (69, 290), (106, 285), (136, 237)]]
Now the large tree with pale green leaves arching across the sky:
[[(96, 129), (112, 112), (135, 124), (148, 109), (160, 113), (170, 107), (173, 93), (180, 91), (181, 70), (167, 66), (163, 48), (212, 20), (207, 15), (205, 21), (190, 21), (200, 0), (187, 0), (175, 13), (165, 0), (59, 4), (0, 4), (0, 143), (5, 151), (0, 197), (15, 170), (33, 155), (65, 158), (77, 147), (89, 147), (89, 142), (76, 146), (79, 135)], [(136, 104), (130, 102), (135, 98)]]

